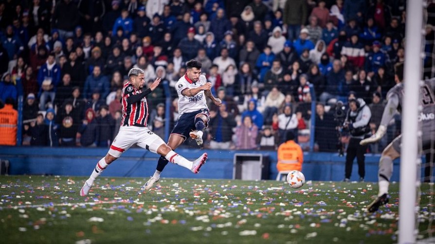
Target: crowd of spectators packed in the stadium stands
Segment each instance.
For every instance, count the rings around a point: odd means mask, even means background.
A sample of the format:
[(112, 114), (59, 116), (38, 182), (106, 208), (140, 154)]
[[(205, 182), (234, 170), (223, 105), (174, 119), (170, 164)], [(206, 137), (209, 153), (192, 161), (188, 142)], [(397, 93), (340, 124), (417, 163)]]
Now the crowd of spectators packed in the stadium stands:
[[(404, 0), (2, 0), (0, 99), (17, 108), (24, 97), (23, 145), (107, 147), (139, 67), (169, 83), (170, 115), (162, 86), (147, 97), (163, 137), (179, 116), (174, 85), (196, 59), (223, 101), (209, 106), (210, 148), (275, 150), (287, 131), (306, 148), (315, 113), (316, 150), (336, 151), (337, 100), (363, 98), (377, 129), (405, 19)], [(427, 25), (425, 50), (433, 39)]]

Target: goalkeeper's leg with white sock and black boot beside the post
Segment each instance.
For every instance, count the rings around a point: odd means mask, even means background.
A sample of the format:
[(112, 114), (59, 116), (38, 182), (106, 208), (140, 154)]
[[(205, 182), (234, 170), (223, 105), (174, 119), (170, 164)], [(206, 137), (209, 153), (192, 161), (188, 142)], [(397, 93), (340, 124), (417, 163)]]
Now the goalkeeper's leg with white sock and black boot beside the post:
[(391, 176), (393, 175), (393, 160), (400, 157), (400, 139), (401, 136), (396, 137), (382, 151), (378, 172), (379, 193), (378, 197), (367, 206), (367, 211), (369, 212), (378, 211), (379, 207), (388, 203), (388, 188)]

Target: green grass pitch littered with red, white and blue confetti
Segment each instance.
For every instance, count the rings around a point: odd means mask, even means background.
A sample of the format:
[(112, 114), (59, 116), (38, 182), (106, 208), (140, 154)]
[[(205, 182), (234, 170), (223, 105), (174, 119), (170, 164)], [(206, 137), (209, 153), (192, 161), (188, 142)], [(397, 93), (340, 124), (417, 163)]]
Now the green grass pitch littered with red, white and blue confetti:
[[(80, 197), (84, 180), (1, 176), (2, 243), (397, 242), (398, 183), (390, 204), (369, 214), (378, 190), (371, 182), (308, 181), (293, 190), (269, 180), (161, 179), (137, 195), (147, 179), (100, 177)], [(431, 187), (421, 187), (422, 236), (434, 215)]]

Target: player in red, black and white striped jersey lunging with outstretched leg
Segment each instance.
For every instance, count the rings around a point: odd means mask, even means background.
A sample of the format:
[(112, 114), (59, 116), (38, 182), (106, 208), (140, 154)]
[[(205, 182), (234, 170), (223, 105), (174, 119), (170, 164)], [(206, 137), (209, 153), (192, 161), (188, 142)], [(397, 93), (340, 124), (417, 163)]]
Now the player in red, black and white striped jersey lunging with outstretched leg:
[(80, 190), (81, 196), (88, 195), (94, 180), (101, 175), (110, 163), (118, 159), (124, 151), (134, 144), (153, 153), (160, 154), (169, 162), (190, 169), (195, 174), (199, 172), (200, 167), (207, 160), (207, 153), (204, 153), (197, 160), (193, 162), (188, 161), (174, 152), (164, 143), (162, 138), (146, 127), (146, 120), (148, 118), (146, 96), (160, 84), (160, 78), (157, 78), (148, 89), (143, 90), (145, 84), (144, 77), (144, 71), (140, 68), (132, 68), (128, 72), (129, 81), (124, 85), (122, 90), (123, 117), (121, 128), (115, 140), (113, 140), (108, 154), (97, 163), (91, 177), (86, 180)]

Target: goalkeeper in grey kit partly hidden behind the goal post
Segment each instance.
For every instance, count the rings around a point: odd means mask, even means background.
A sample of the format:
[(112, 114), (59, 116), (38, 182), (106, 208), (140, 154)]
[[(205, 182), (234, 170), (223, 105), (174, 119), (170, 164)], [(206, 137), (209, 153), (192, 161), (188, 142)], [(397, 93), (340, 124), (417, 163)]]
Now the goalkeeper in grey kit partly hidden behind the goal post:
[[(395, 81), (396, 85), (387, 93), (387, 105), (382, 114), (381, 125), (374, 135), (360, 142), (361, 145), (375, 143), (381, 140), (387, 130), (387, 125), (396, 113), (396, 110), (401, 112), (403, 98), (403, 63), (395, 65)], [(422, 110), (418, 115), (418, 122), (421, 123), (422, 135), (419, 138), (421, 143), (419, 148), (430, 149), (431, 142), (435, 138), (435, 98), (434, 98), (435, 79), (424, 81), (420, 86), (420, 105)], [(400, 157), (401, 135), (396, 137), (382, 151), (379, 161), (379, 193), (378, 197), (367, 207), (367, 211), (375, 212), (381, 205), (388, 203), (388, 187), (391, 176), (393, 175), (393, 160)]]

